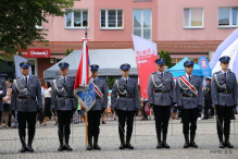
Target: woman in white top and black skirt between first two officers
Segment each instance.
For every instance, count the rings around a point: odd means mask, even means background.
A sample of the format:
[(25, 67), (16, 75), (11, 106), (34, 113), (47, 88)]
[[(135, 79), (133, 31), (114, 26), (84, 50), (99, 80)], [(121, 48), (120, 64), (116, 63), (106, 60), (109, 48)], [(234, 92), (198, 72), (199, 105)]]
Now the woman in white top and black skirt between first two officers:
[(51, 111), (50, 111), (50, 107), (51, 107), (51, 85), (50, 82), (45, 82), (45, 109), (43, 109), (43, 123), (41, 124), (41, 126), (47, 125), (47, 119), (48, 117), (50, 117)]

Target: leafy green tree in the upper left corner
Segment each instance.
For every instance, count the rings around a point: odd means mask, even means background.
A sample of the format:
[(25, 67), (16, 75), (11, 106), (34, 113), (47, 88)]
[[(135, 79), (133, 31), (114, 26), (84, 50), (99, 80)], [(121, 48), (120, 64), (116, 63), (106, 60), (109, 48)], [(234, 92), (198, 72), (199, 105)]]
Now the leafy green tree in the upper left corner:
[[(36, 25), (48, 23), (49, 16), (63, 16), (63, 9), (72, 8), (76, 0), (1, 0), (0, 1), (0, 50), (14, 54), (27, 50), (33, 42), (45, 40), (47, 29)], [(3, 53), (4, 54), (4, 53)]]

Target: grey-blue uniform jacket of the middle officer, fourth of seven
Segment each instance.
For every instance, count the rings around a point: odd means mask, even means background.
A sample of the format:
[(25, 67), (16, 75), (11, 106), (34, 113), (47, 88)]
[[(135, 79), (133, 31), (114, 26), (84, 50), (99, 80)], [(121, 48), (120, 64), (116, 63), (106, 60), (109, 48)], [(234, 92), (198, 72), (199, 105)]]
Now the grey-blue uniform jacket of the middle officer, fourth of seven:
[[(118, 87), (117, 87), (117, 83)], [(124, 97), (118, 97), (117, 95), (121, 93), (125, 93), (125, 95), (129, 95), (123, 84), (127, 87), (130, 94), (134, 95), (134, 98), (124, 98)], [(120, 90), (118, 90), (120, 89)], [(120, 110), (124, 111), (135, 111), (135, 109), (139, 108), (139, 96), (138, 96), (138, 88), (137, 88), (137, 82), (135, 78), (128, 77), (127, 84), (126, 81), (121, 77), (115, 80), (113, 88), (112, 88), (112, 94), (111, 94), (111, 106), (112, 108), (116, 108)]]

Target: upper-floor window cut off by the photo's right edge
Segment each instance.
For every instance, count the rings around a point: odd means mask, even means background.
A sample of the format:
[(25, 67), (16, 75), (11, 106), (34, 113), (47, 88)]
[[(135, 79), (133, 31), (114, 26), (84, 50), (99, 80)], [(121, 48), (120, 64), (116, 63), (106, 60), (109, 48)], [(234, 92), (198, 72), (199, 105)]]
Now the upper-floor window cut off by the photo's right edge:
[(218, 27), (237, 27), (238, 8), (218, 8)]

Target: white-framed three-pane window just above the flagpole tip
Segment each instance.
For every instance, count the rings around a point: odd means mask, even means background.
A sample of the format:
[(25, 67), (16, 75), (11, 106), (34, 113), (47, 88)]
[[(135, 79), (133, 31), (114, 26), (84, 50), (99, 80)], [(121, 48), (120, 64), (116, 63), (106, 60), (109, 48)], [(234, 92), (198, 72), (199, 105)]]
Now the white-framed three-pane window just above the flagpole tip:
[(88, 26), (87, 10), (66, 10), (65, 28), (85, 28)]

